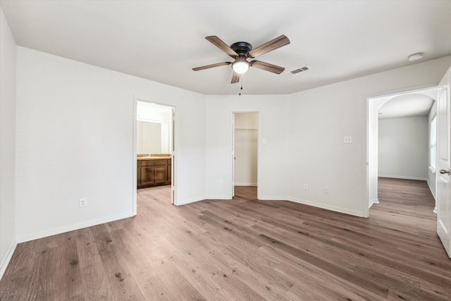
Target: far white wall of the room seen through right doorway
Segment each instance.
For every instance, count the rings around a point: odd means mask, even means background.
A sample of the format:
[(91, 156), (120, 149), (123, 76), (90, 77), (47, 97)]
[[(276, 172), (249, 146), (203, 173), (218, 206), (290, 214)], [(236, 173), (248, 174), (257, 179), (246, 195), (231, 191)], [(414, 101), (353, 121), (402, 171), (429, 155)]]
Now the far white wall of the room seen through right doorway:
[(378, 176), (427, 180), (428, 116), (379, 120)]

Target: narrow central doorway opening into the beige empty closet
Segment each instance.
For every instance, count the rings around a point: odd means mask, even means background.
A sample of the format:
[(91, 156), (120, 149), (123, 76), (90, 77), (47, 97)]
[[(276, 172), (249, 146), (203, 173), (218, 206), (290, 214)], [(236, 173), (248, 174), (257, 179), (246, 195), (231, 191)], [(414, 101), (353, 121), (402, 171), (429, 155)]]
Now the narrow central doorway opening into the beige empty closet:
[(235, 187), (252, 187), (247, 190), (258, 195), (259, 164), (259, 113), (233, 113), (233, 196)]

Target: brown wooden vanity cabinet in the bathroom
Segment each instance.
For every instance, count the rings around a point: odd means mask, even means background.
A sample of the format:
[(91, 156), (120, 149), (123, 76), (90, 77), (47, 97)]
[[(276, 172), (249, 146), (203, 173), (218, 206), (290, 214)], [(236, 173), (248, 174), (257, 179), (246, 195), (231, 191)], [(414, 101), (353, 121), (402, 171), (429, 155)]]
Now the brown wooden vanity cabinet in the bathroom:
[(137, 162), (138, 188), (171, 184), (171, 159), (138, 159)]

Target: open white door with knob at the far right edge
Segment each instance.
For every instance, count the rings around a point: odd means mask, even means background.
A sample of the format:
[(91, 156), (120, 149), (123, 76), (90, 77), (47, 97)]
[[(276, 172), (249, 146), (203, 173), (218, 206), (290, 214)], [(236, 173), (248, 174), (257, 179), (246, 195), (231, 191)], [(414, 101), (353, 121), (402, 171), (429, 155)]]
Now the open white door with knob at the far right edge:
[(437, 233), (451, 258), (450, 184), (450, 85), (451, 68), (440, 81), (444, 88), (437, 99)]

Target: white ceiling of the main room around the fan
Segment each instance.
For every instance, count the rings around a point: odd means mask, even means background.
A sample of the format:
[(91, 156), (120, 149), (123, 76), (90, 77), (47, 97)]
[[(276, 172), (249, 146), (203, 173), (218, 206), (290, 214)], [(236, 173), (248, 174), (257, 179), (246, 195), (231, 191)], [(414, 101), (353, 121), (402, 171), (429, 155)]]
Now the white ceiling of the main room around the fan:
[[(258, 47), (296, 75), (251, 68), (243, 94), (290, 94), (451, 54), (451, 1), (0, 1), (18, 45), (202, 94), (237, 94), (204, 37)], [(418, 61), (417, 61), (418, 62)], [(417, 63), (414, 62), (414, 63)]]

